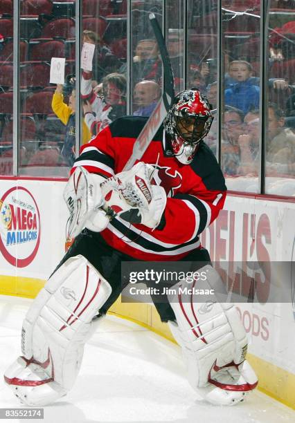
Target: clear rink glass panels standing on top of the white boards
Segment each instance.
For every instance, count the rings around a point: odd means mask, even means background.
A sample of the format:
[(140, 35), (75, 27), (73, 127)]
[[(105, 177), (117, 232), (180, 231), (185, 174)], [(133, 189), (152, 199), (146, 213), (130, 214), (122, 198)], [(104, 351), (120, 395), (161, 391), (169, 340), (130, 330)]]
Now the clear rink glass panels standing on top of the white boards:
[[(152, 112), (148, 104), (152, 100), (146, 100), (154, 98), (152, 93), (134, 99), (134, 86), (144, 79), (162, 88), (161, 60), (157, 46), (153, 48), (148, 21), (148, 13), (154, 12), (166, 36), (177, 91), (197, 86), (212, 104), (215, 120), (206, 142), (220, 161), (229, 189), (293, 196), (295, 29), (290, 4), (276, 0), (77, 0), (48, 1), (39, 10), (37, 1), (14, 1), (13, 7), (3, 3), (1, 8), (7, 10), (0, 10), (1, 175), (68, 176), (69, 164), (61, 155), (66, 126), (51, 107), (55, 84), (50, 84), (49, 72), (52, 57), (65, 58), (63, 101), (68, 103), (72, 88), (80, 91), (84, 30), (97, 35), (93, 87), (109, 73), (123, 73), (128, 76), (127, 114), (138, 109), (141, 113), (141, 107), (146, 115)], [(244, 84), (256, 88), (251, 87), (248, 104), (235, 96), (243, 81), (232, 78), (239, 72), (231, 71), (233, 61), (249, 64)], [(247, 69), (243, 71), (247, 76)], [(233, 95), (228, 100), (230, 88)], [(269, 104), (276, 108), (269, 109)], [(240, 118), (234, 113), (229, 116), (231, 107), (242, 109)], [(249, 116), (253, 109), (255, 113)], [(71, 131), (78, 154), (83, 139), (79, 96), (73, 113)]]

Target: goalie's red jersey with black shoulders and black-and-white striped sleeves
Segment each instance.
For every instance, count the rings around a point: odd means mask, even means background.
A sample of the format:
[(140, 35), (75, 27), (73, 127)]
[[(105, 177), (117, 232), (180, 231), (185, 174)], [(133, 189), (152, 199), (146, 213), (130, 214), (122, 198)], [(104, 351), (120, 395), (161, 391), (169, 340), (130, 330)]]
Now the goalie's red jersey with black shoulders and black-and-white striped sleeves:
[[(146, 118), (134, 116), (112, 122), (82, 147), (73, 169), (83, 166), (105, 178), (122, 171), (145, 122)], [(217, 218), (226, 197), (222, 171), (204, 142), (191, 164), (181, 164), (167, 156), (162, 138), (163, 127), (142, 161), (157, 164), (152, 183), (166, 190), (163, 224), (152, 230), (115, 218), (100, 233), (111, 247), (139, 260), (175, 261), (201, 247), (199, 234)]]

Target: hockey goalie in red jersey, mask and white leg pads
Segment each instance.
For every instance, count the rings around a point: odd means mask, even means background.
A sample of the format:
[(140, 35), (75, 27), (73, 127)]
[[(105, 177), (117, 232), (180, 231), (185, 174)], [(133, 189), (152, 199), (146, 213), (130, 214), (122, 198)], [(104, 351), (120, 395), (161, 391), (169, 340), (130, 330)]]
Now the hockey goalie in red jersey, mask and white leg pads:
[[(22, 403), (44, 406), (69, 392), (84, 344), (124, 288), (123, 261), (202, 263), (206, 287), (222, 283), (199, 241), (226, 197), (205, 142), (212, 120), (206, 97), (193, 88), (175, 97), (132, 169), (123, 171), (146, 118), (119, 118), (82, 147), (64, 191), (75, 241), (28, 310), (22, 355), (4, 376)], [(168, 294), (155, 306), (197, 394), (211, 404), (238, 404), (258, 384), (240, 317), (231, 303), (216, 298), (204, 313), (197, 301)]]

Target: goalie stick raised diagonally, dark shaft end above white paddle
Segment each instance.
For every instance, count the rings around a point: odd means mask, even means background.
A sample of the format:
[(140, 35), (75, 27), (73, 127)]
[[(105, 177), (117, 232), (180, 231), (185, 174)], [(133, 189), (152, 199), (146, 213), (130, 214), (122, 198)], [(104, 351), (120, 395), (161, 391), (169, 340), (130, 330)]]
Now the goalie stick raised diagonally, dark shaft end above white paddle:
[(154, 30), (154, 35), (157, 39), (157, 44), (159, 46), (160, 55), (163, 62), (163, 94), (156, 108), (150, 115), (149, 120), (147, 120), (141, 133), (138, 135), (138, 138), (133, 146), (132, 155), (123, 167), (123, 171), (131, 169), (136, 160), (142, 158), (143, 153), (150, 145), (152, 138), (154, 138), (154, 135), (161, 126), (164, 118), (166, 118), (167, 112), (170, 109), (172, 101), (175, 97), (174, 77), (165, 40), (163, 39), (161, 28), (154, 13), (150, 13), (149, 19), (152, 25), (152, 29)]

